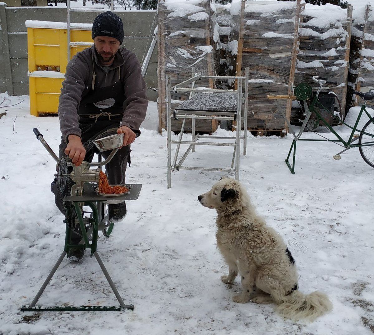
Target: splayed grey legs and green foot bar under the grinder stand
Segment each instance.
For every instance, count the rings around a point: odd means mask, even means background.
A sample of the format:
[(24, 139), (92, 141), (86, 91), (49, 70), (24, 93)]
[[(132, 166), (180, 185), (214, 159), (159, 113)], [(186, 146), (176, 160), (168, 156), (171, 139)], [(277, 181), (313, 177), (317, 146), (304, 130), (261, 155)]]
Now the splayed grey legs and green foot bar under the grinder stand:
[(56, 270), (60, 266), (62, 260), (66, 256), (66, 254), (67, 253), (65, 251), (62, 252), (61, 256), (59, 257), (56, 264), (53, 266), (52, 270), (49, 272), (48, 277), (44, 281), (42, 287), (40, 287), (39, 292), (37, 293), (37, 295), (35, 296), (35, 298), (31, 302), (31, 304), (28, 305), (28, 306), (24, 305), (24, 306), (21, 307), (22, 312), (30, 312), (30, 311), (38, 311), (38, 312), (41, 312), (41, 311), (120, 311), (120, 310), (125, 310), (125, 309), (134, 310), (134, 305), (125, 305), (123, 303), (123, 300), (122, 300), (121, 296), (119, 295), (116, 286), (114, 286), (114, 283), (113, 283), (112, 279), (110, 278), (110, 275), (108, 274), (108, 271), (105, 268), (103, 262), (101, 261), (101, 258), (99, 256), (99, 254), (97, 253), (97, 251), (93, 252), (93, 255), (95, 256), (96, 261), (99, 263), (100, 268), (105, 275), (105, 278), (107, 278), (107, 281), (108, 281), (111, 289), (114, 292), (114, 295), (116, 296), (116, 298), (117, 298), (117, 300), (120, 304), (119, 307), (118, 306), (117, 307), (116, 306), (79, 306), (79, 307), (74, 307), (74, 306), (54, 306), (54, 307), (36, 306), (37, 301), (39, 300), (43, 291), (47, 287), (49, 281), (52, 279), (53, 275), (55, 274)]

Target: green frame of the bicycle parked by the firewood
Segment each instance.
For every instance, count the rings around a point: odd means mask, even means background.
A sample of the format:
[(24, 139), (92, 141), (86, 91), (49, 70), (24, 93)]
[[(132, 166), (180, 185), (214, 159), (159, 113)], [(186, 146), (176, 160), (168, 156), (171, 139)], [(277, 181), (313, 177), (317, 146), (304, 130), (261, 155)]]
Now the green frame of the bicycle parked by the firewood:
[[(344, 150), (339, 152), (337, 155), (334, 155), (334, 158), (335, 157), (338, 157), (340, 158), (340, 153), (343, 153), (344, 151), (346, 150), (349, 150), (350, 148), (353, 148), (353, 147), (363, 147), (363, 146), (372, 146), (374, 144), (374, 137), (373, 137), (373, 134), (369, 134), (369, 133), (365, 133), (361, 130), (358, 130), (357, 129), (357, 126), (358, 126), (358, 123), (361, 119), (361, 116), (362, 116), (362, 113), (366, 113), (366, 115), (368, 116), (368, 118), (374, 123), (374, 120), (373, 118), (370, 116), (370, 114), (368, 113), (368, 111), (366, 110), (365, 106), (366, 106), (366, 103), (367, 101), (365, 100), (364, 103), (362, 104), (361, 106), (361, 110), (359, 112), (359, 115), (356, 119), (356, 122), (355, 122), (355, 125), (353, 127), (351, 127), (350, 125), (346, 124), (345, 122), (343, 122), (342, 120), (340, 120), (340, 122), (344, 125), (346, 125), (347, 127), (351, 128), (352, 129), (352, 132), (350, 133), (350, 136), (348, 138), (347, 141), (345, 141), (333, 128), (332, 126), (324, 119), (324, 117), (318, 112), (318, 110), (315, 108), (315, 107), (320, 107), (324, 110), (327, 110), (325, 108), (325, 106), (323, 104), (321, 104), (319, 101), (318, 101), (318, 95), (319, 93), (321, 92), (321, 89), (322, 89), (323, 85), (319, 85), (319, 88), (318, 88), (318, 91), (316, 92), (316, 95), (312, 101), (312, 103), (307, 106), (307, 103), (306, 103), (306, 100), (304, 100), (304, 107), (305, 107), (305, 110), (306, 110), (306, 118), (304, 119), (303, 121), (303, 125), (301, 126), (301, 129), (300, 129), (300, 132), (298, 135), (296, 135), (293, 131), (292, 131), (292, 134), (294, 135), (294, 140), (292, 141), (292, 144), (291, 144), (291, 147), (289, 149), (289, 152), (288, 152), (288, 156), (287, 158), (285, 159), (285, 162), (289, 168), (289, 170), (291, 171), (292, 174), (295, 174), (295, 158), (296, 158), (296, 142), (297, 141), (324, 141), (324, 142), (340, 142), (341, 144), (343, 144), (344, 146)], [(332, 134), (335, 135), (335, 137), (337, 138), (336, 140), (330, 140), (330, 139), (304, 139), (304, 138), (300, 138), (301, 134), (303, 134), (304, 132), (304, 129), (306, 127), (306, 124), (307, 122), (309, 121), (309, 118), (310, 118), (310, 115), (312, 115), (312, 112), (314, 112), (317, 116), (317, 120), (316, 120), (316, 124), (319, 125), (320, 121), (322, 121), (322, 123), (325, 125), (325, 127), (327, 127)], [(287, 121), (287, 119), (286, 119)], [(290, 125), (289, 125), (290, 127)], [(290, 127), (291, 129), (291, 127)], [(354, 141), (358, 140), (359, 137), (357, 135), (355, 135), (355, 132), (359, 132), (360, 134), (365, 134), (365, 135), (369, 135), (371, 137), (373, 137), (373, 141), (368, 141), (368, 142), (365, 142), (364, 144), (352, 144)], [(293, 159), (292, 159), (292, 166), (289, 164), (289, 157), (291, 155), (291, 152), (292, 152), (292, 149), (293, 149)], [(339, 159), (339, 158), (336, 158), (336, 159)]]

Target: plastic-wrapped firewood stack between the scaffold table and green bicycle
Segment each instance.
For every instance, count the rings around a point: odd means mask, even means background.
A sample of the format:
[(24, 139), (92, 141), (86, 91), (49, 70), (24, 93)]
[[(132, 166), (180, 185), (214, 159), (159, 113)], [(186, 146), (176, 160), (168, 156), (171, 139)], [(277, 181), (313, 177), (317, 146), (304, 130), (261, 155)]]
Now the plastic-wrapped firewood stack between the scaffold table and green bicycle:
[[(237, 5), (236, 5), (237, 6)], [(232, 32), (227, 51), (236, 75), (249, 67), (248, 128), (256, 134), (284, 135), (288, 131), (291, 100), (270, 100), (267, 95), (289, 95), (294, 81), (298, 1), (241, 1), (231, 8)], [(237, 48), (236, 48), (237, 45)]]

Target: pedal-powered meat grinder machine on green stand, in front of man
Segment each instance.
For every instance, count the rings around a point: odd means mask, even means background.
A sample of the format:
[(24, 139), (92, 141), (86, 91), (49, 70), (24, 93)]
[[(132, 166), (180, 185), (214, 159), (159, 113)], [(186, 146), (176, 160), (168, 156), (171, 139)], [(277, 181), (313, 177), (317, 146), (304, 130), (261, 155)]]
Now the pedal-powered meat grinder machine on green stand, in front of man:
[[(113, 229), (113, 223), (108, 219), (107, 205), (118, 204), (125, 200), (136, 200), (139, 197), (141, 191), (141, 184), (126, 184), (128, 192), (123, 194), (101, 194), (98, 192), (99, 173), (101, 167), (107, 164), (123, 143), (123, 134), (117, 134), (116, 130), (111, 129), (100, 135), (100, 138), (92, 141), (94, 146), (99, 151), (99, 159), (96, 163), (89, 163), (83, 161), (83, 163), (76, 167), (68, 158), (59, 159), (50, 146), (46, 143), (43, 135), (40, 134), (37, 128), (33, 129), (34, 134), (50, 155), (57, 162), (56, 169), (56, 182), (58, 186), (59, 195), (65, 204), (65, 244), (64, 251), (61, 253), (56, 264), (49, 272), (46, 280), (39, 292), (29, 305), (21, 307), (21, 311), (119, 311), (124, 309), (134, 309), (134, 305), (125, 304), (113, 283), (107, 269), (104, 266), (98, 252), (97, 252), (97, 240), (98, 232), (102, 231), (105, 236), (109, 236)], [(90, 143), (91, 144), (91, 143)], [(93, 145), (92, 145), (93, 147)], [(105, 161), (101, 162), (100, 152), (112, 150), (110, 155)], [(93, 167), (93, 168), (92, 168)], [(85, 211), (85, 208), (90, 208), (90, 211)], [(82, 240), (78, 244), (71, 244), (70, 237), (72, 227), (79, 225), (80, 232), (82, 234)], [(70, 249), (83, 248), (91, 250), (91, 258), (95, 257), (102, 272), (105, 275), (114, 295), (119, 302), (119, 306), (97, 306), (97, 305), (85, 305), (85, 306), (37, 306), (36, 303), (40, 296), (47, 287), (49, 281), (52, 279), (59, 265), (67, 255)]]

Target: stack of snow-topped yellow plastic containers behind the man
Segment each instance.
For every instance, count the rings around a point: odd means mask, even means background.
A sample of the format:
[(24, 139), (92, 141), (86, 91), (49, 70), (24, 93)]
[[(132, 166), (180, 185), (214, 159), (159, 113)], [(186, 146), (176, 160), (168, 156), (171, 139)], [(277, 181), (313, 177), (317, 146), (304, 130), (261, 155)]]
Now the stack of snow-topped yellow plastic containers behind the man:
[[(66, 22), (31, 21), (27, 27), (28, 76), (30, 78), (30, 114), (57, 113), (58, 99), (66, 72)], [(70, 59), (92, 44), (90, 24), (71, 24)], [(49, 70), (49, 71), (46, 71)]]

